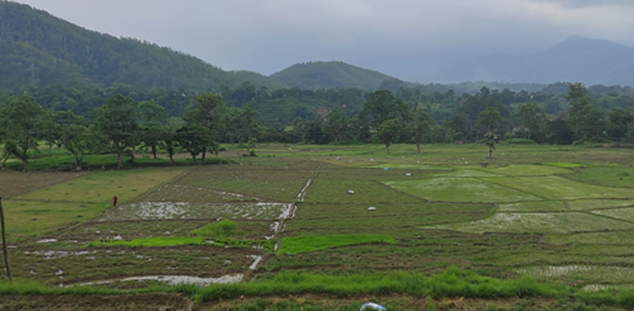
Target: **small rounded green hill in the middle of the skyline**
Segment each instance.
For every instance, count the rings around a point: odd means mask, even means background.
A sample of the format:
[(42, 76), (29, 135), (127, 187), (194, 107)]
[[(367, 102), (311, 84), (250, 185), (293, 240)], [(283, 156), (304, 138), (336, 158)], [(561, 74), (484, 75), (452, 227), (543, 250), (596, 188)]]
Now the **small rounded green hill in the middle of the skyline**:
[(286, 86), (300, 89), (358, 87), (374, 90), (383, 82), (397, 81), (395, 77), (345, 62), (305, 62), (276, 72), (271, 77)]

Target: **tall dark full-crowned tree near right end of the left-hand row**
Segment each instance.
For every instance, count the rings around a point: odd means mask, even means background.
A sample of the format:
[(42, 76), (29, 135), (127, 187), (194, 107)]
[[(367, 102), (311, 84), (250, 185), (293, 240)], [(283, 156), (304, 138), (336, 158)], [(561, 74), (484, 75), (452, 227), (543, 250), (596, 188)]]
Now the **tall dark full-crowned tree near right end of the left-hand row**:
[[(189, 107), (185, 121), (188, 130), (199, 129), (198, 136), (205, 136), (193, 139), (190, 143), (202, 143), (200, 149), (203, 153), (201, 162), (205, 163), (207, 152), (218, 146), (218, 133), (222, 129), (222, 109), (225, 102), (222, 95), (213, 93), (203, 93), (195, 98), (195, 102)], [(197, 153), (198, 154), (198, 153)]]

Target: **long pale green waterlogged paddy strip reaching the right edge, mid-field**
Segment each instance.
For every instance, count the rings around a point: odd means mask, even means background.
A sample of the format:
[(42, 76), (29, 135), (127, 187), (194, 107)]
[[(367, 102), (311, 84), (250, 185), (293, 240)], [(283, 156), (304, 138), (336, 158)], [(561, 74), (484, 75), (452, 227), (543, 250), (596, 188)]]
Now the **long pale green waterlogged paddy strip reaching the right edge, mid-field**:
[(486, 219), (425, 228), (450, 229), (471, 233), (574, 233), (580, 231), (633, 229), (634, 224), (579, 212), (567, 213), (496, 213)]

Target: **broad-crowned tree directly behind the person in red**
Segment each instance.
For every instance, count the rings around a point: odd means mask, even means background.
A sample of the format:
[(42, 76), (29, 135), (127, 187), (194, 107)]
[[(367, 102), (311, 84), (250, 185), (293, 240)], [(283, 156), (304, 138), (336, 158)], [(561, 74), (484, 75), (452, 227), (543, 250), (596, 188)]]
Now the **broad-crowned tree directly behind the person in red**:
[(114, 95), (102, 107), (95, 109), (95, 114), (95, 125), (117, 151), (117, 168), (121, 169), (123, 151), (138, 142), (138, 104), (129, 97)]

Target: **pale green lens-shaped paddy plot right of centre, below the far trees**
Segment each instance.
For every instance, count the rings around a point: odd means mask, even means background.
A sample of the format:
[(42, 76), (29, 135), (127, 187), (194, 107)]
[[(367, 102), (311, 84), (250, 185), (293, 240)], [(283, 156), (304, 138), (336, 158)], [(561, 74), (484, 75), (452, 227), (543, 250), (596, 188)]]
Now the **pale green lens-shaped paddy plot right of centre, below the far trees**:
[(444, 202), (512, 202), (540, 200), (509, 187), (476, 178), (434, 178), (429, 180), (392, 181), (386, 185), (410, 195)]

